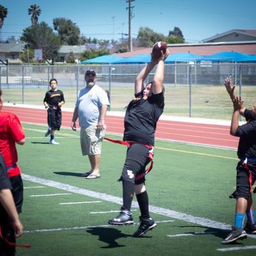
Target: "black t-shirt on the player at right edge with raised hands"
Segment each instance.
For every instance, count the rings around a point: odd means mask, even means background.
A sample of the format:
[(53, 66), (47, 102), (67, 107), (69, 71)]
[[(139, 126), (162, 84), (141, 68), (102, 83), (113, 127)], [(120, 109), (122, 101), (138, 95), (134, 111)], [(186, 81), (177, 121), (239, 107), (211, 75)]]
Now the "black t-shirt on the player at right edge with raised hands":
[(246, 109), (244, 117), (248, 122), (237, 128), (236, 136), (240, 137), (237, 156), (256, 157), (256, 120), (252, 116), (252, 111)]

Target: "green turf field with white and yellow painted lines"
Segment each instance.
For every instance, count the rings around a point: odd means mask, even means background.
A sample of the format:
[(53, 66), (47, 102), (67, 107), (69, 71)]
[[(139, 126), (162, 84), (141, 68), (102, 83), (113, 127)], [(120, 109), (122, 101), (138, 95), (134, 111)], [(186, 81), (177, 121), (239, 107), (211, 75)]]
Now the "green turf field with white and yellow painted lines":
[[(26, 143), (17, 146), (24, 175), (24, 224), (17, 255), (253, 255), (256, 236), (222, 245), (234, 220), (236, 151), (156, 141), (154, 169), (147, 175), (154, 230), (132, 237), (137, 225), (109, 226), (122, 204), (120, 177), (126, 148), (104, 141), (100, 179), (86, 180), (79, 132), (56, 132), (49, 145), (46, 127), (24, 124)], [(109, 138), (121, 139), (118, 136)], [(76, 204), (75, 204), (76, 203)], [(136, 200), (135, 200), (136, 203)], [(132, 207), (134, 221), (140, 211)], [(230, 248), (232, 251), (221, 252)], [(249, 247), (250, 248), (250, 247)]]

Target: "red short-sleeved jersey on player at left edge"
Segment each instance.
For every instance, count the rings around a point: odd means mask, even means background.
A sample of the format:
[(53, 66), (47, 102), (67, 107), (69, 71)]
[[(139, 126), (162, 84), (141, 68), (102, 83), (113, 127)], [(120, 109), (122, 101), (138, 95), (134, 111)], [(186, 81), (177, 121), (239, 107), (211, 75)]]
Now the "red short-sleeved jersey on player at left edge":
[(9, 177), (20, 174), (15, 143), (24, 138), (25, 133), (19, 118), (13, 113), (0, 111), (0, 153), (3, 155)]

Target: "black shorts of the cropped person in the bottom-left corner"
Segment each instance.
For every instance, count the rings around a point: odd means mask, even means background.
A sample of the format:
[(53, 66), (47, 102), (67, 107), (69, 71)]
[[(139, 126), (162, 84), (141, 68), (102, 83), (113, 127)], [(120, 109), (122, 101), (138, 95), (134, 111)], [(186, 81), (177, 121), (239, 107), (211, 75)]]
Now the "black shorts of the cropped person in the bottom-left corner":
[[(2, 235), (11, 243), (15, 243), (15, 232), (12, 227), (12, 220), (0, 204), (0, 226)], [(0, 256), (13, 256), (15, 255), (15, 246), (7, 245), (3, 239), (0, 238)]]

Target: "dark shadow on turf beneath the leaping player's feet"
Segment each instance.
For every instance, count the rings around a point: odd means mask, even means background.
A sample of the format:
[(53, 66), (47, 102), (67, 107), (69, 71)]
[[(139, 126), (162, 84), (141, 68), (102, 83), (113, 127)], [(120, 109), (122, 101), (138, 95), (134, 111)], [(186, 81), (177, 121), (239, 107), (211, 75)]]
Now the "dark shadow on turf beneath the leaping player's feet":
[(92, 227), (88, 228), (86, 232), (92, 234), (93, 236), (99, 236), (99, 241), (108, 244), (108, 246), (102, 246), (100, 248), (124, 247), (125, 245), (118, 244), (116, 239), (122, 237), (131, 237), (130, 235), (125, 235), (122, 233), (122, 231), (117, 230), (116, 228)]

